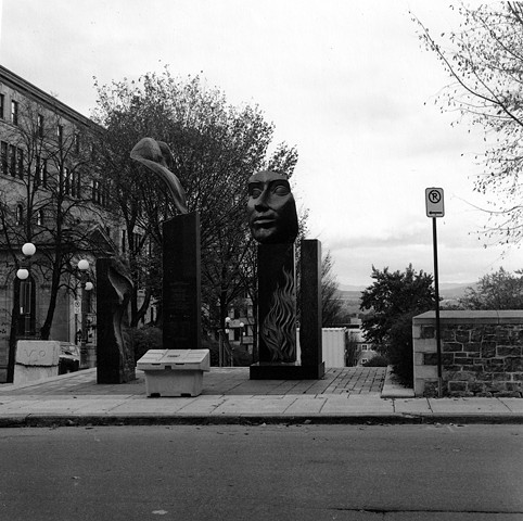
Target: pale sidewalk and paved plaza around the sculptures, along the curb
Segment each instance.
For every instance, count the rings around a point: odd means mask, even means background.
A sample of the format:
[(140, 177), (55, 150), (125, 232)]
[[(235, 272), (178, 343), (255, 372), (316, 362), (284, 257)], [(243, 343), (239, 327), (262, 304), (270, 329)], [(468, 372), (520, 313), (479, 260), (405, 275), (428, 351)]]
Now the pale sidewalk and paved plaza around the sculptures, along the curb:
[[(323, 380), (248, 380), (212, 368), (196, 397), (150, 398), (144, 376), (98, 385), (95, 369), (0, 385), (0, 427), (177, 423), (521, 423), (521, 398), (412, 398), (384, 368), (329, 369)], [(392, 397), (385, 397), (392, 396)]]

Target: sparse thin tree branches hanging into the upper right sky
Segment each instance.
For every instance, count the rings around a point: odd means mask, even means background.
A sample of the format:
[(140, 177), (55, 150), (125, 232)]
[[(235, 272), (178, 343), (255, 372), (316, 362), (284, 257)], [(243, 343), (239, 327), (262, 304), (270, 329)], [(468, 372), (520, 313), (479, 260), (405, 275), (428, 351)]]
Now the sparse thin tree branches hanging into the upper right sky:
[(519, 243), (523, 238), (523, 3), (450, 9), (460, 15), (459, 28), (437, 38), (413, 20), (421, 41), (451, 78), (439, 97), (442, 112), (455, 111), (485, 132), (485, 170), (475, 182), (476, 191), (493, 199), (484, 231), (500, 243)]

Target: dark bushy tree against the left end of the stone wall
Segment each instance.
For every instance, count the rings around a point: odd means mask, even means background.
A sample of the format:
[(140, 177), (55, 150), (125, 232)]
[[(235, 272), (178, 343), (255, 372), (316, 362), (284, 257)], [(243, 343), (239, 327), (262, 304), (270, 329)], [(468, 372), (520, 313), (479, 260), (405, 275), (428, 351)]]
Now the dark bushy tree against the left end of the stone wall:
[(433, 309), (433, 279), (409, 265), (405, 271), (383, 271), (372, 266), (374, 282), (361, 294), (360, 309), (366, 339), (387, 356), (394, 372), (406, 384), (412, 383), (412, 317)]

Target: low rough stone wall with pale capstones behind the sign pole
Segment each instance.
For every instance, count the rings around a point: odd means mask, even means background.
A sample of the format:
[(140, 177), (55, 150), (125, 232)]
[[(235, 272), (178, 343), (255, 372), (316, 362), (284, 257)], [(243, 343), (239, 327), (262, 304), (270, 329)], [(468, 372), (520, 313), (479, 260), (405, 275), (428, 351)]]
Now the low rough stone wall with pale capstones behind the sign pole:
[[(523, 310), (442, 312), (445, 396), (523, 396)], [(412, 319), (414, 394), (437, 396), (435, 313)]]

